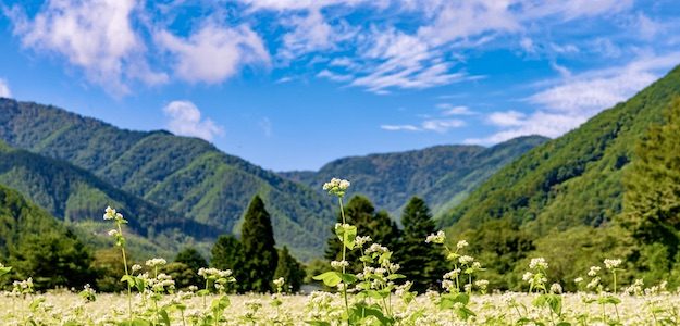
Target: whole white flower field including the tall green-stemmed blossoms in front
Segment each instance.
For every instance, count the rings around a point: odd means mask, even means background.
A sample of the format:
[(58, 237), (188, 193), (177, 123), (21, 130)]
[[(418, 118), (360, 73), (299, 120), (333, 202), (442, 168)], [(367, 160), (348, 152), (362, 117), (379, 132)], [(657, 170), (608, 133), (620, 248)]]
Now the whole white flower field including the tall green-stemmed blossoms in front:
[[(324, 185), (338, 199), (344, 218), (346, 180)], [(237, 279), (231, 271), (201, 268), (201, 288), (176, 290), (174, 280), (159, 273), (163, 259), (146, 267), (128, 265), (125, 255), (124, 217), (107, 208), (104, 220), (115, 227), (124, 263), (121, 294), (99, 294), (89, 287), (78, 291), (36, 293), (33, 280), (14, 281), (11, 291), (0, 294), (2, 325), (678, 325), (680, 293), (665, 284), (645, 286), (642, 280), (617, 287), (621, 260), (595, 262), (583, 277), (574, 279), (581, 289), (564, 293), (549, 281), (549, 262), (534, 258), (522, 279), (528, 292), (499, 293), (480, 279), (483, 262), (466, 254), (468, 242), (446, 246), (442, 231), (423, 241), (446, 249), (454, 268), (442, 276), (443, 292), (418, 296), (411, 283), (398, 274), (392, 251), (369, 237), (357, 235), (353, 225), (338, 223), (335, 233), (343, 243), (342, 260), (331, 262), (333, 271), (314, 277), (333, 291), (285, 294), (286, 280), (272, 280), (272, 294), (230, 294)], [(363, 271), (346, 271), (348, 251), (359, 251)], [(0, 265), (0, 278), (11, 266)], [(610, 280), (611, 288), (603, 285)]]

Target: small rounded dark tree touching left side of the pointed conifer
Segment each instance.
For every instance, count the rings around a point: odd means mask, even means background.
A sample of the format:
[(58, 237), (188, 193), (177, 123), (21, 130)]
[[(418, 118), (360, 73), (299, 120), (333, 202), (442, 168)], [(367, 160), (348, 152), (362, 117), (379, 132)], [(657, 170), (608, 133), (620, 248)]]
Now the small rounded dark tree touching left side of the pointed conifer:
[(238, 239), (232, 235), (220, 236), (210, 250), (212, 253), (210, 265), (218, 269), (231, 269), (236, 278), (234, 288), (238, 292), (245, 291), (245, 284), (248, 280), (243, 250)]

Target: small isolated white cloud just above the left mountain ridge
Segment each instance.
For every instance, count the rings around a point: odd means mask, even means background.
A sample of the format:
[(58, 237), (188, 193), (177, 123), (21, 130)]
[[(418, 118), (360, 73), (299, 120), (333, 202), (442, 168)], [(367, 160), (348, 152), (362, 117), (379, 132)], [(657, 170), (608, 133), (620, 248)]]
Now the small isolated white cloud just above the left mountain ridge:
[(224, 135), (224, 128), (210, 118), (201, 118), (198, 108), (189, 101), (172, 101), (163, 108), (163, 113), (170, 118), (168, 129), (176, 135), (198, 137), (208, 141), (214, 136)]

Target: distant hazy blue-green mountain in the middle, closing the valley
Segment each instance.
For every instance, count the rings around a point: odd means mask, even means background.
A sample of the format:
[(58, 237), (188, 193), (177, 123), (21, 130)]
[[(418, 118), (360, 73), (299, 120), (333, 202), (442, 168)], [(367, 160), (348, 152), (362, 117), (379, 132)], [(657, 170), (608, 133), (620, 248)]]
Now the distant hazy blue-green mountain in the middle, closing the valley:
[(321, 191), (332, 177), (349, 179), (348, 195), (361, 193), (397, 216), (412, 196), (425, 199), (433, 212), (453, 208), (498, 168), (547, 138), (527, 136), (481, 146), (435, 146), (422, 150), (335, 160), (318, 172), (282, 172), (282, 176)]

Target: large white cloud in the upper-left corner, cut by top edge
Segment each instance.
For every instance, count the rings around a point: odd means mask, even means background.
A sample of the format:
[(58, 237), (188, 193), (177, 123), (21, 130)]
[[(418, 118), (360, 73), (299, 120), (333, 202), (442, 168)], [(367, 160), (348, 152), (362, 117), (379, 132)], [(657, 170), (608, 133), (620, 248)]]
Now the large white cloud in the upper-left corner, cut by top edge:
[(115, 95), (129, 91), (126, 82), (162, 84), (144, 59), (144, 42), (133, 29), (135, 0), (49, 0), (30, 20), (18, 7), (5, 13), (25, 48), (58, 53), (85, 71), (87, 79)]

